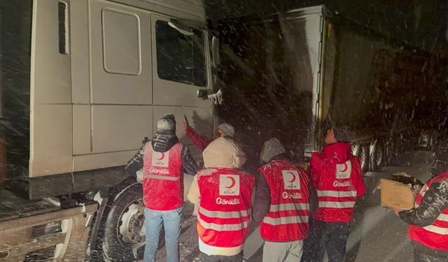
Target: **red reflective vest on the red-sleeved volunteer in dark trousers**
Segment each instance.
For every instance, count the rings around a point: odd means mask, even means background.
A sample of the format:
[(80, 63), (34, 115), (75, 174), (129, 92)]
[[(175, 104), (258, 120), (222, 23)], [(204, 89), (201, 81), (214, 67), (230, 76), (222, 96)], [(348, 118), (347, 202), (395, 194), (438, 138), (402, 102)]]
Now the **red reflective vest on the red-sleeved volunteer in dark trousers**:
[(361, 175), (359, 160), (350, 156), (344, 163), (324, 159), (322, 179), (316, 185), (318, 208), (314, 219), (328, 222), (348, 222), (357, 198), (357, 178)]

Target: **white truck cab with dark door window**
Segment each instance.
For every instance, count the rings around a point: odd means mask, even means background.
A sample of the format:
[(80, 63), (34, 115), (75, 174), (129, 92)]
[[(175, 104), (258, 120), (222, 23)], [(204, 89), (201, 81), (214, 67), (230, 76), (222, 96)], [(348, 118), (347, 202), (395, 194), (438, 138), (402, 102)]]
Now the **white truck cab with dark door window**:
[(122, 166), (166, 112), (184, 142), (183, 115), (211, 134), (204, 15), (200, 1), (34, 1), (29, 177)]

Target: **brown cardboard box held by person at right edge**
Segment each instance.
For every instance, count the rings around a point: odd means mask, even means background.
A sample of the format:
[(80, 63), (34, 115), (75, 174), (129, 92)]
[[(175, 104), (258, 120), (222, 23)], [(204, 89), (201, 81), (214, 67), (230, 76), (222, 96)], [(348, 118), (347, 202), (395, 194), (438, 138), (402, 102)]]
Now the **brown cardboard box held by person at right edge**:
[(379, 180), (381, 189), (381, 205), (388, 208), (410, 210), (414, 208), (415, 195), (410, 184), (382, 178)]

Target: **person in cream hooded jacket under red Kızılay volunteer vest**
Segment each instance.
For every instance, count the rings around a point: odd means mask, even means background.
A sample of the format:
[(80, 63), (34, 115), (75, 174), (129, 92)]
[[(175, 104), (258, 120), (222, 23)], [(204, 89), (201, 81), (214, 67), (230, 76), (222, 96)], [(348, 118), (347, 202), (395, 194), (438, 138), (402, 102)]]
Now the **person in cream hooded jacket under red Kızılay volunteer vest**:
[(188, 200), (199, 204), (200, 259), (240, 262), (255, 177), (240, 169), (246, 155), (230, 138), (216, 138), (202, 155), (206, 169), (195, 175), (188, 192)]

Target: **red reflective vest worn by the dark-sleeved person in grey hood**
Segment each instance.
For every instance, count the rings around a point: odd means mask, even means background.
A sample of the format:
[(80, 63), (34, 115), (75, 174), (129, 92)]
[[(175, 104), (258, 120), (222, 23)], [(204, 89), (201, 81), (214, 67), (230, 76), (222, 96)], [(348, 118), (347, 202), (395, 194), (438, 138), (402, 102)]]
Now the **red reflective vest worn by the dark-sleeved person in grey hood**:
[(271, 207), (260, 224), (267, 241), (290, 242), (308, 235), (307, 175), (293, 163), (274, 160), (259, 168), (271, 191)]

